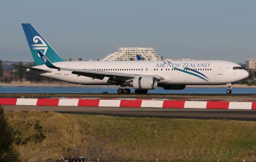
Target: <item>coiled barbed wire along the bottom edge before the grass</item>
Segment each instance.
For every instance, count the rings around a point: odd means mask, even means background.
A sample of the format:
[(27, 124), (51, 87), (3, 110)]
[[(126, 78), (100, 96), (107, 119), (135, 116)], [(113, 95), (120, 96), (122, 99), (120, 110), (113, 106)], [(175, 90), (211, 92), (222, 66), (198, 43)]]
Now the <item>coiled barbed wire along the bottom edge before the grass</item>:
[(104, 160), (256, 160), (256, 150), (239, 148), (97, 148), (72, 150), (70, 157)]

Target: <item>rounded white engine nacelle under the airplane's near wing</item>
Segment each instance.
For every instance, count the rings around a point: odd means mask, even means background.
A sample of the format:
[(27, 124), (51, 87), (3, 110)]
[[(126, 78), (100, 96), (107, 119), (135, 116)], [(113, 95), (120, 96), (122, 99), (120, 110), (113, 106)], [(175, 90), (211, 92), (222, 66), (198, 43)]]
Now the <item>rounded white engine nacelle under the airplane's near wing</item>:
[(124, 84), (138, 90), (153, 90), (157, 86), (157, 79), (152, 76), (142, 76), (134, 78)]

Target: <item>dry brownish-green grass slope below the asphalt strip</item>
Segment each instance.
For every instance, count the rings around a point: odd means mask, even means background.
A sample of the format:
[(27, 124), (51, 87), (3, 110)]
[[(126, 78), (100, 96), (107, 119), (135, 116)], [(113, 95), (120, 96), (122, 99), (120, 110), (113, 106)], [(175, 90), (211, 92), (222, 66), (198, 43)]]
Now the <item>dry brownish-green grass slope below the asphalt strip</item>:
[[(85, 154), (81, 148), (242, 148), (256, 151), (256, 122), (127, 118), (56, 112), (6, 112), (20, 137), (33, 134), (40, 120), (46, 138), (42, 142), (15, 144), (21, 155), (46, 152), (46, 158)], [(111, 153), (110, 153), (111, 154)], [(122, 152), (120, 152), (122, 154)], [(35, 156), (29, 160), (39, 160)], [(21, 160), (22, 159), (21, 156)]]

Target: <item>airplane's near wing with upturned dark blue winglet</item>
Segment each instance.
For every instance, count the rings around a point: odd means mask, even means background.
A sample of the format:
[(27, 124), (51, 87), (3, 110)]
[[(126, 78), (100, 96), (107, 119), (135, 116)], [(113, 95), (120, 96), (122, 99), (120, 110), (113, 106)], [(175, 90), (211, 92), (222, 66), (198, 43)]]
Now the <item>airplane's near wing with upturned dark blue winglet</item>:
[[(139, 77), (139, 76), (152, 76), (152, 75), (138, 75), (138, 74), (126, 74), (126, 73), (118, 73), (118, 72), (106, 72), (106, 71), (99, 71), (99, 70), (90, 70), (90, 69), (72, 69), (72, 68), (60, 68), (56, 67), (55, 65), (50, 62), (50, 60), (42, 54), (41, 51), (38, 51), (38, 54), (44, 61), (45, 65), (48, 68), (54, 68), (59, 70), (67, 70), (72, 71), (72, 74), (77, 74), (78, 76), (87, 76), (92, 79), (100, 79), (103, 80), (104, 77), (110, 77), (113, 78), (113, 80), (118, 81), (126, 81), (131, 80), (133, 78)], [(154, 76), (158, 81), (161, 79), (160, 76)]]

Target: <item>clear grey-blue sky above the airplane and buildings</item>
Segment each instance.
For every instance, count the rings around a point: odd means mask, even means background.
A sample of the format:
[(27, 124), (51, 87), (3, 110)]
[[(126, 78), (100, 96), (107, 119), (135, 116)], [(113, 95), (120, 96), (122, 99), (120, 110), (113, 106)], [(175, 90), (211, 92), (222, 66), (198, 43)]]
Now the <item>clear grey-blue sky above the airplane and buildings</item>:
[(256, 56), (255, 0), (8, 0), (0, 1), (0, 15), (1, 60), (32, 61), (21, 23), (73, 60), (141, 45), (173, 59)]

